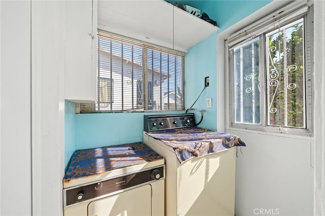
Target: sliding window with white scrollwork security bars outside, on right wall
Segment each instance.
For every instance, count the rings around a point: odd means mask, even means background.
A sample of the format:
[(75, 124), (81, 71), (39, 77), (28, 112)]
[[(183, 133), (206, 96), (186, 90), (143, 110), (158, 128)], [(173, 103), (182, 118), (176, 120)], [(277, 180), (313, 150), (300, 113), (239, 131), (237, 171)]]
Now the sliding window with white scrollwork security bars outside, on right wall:
[(312, 7), (304, 4), (226, 40), (230, 127), (311, 135)]

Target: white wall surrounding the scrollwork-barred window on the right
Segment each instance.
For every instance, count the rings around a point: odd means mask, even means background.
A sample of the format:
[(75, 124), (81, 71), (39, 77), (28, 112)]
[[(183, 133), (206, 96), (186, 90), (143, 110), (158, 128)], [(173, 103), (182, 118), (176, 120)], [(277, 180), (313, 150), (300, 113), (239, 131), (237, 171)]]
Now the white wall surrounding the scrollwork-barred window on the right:
[[(232, 32), (263, 18), (285, 4), (274, 1), (218, 34), (218, 73), (225, 70), (224, 38)], [(238, 154), (236, 163), (236, 215), (324, 215), (324, 2), (315, 1), (315, 65), (313, 74), (315, 103), (313, 104), (313, 134), (285, 136), (248, 130), (230, 130), (229, 109), (225, 117), (218, 113), (218, 123), (225, 118), (225, 131), (240, 136), (247, 147)], [(316, 28), (316, 27), (315, 27)], [(222, 76), (221, 76), (222, 78)], [(218, 85), (225, 89), (218, 102), (228, 104), (228, 74)], [(225, 92), (225, 96), (222, 93)], [(219, 126), (218, 126), (219, 128)], [(257, 210), (256, 210), (257, 209)], [(259, 209), (263, 209), (262, 211)], [(271, 210), (271, 211), (270, 211)], [(273, 210), (273, 211), (272, 211)], [(266, 211), (268, 211), (266, 213)]]

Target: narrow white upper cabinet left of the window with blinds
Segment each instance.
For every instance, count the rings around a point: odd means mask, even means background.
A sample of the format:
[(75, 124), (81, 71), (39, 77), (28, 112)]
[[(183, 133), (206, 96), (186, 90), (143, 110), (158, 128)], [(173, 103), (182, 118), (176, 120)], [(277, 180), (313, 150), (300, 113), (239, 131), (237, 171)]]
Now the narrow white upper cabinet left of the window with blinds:
[(97, 1), (65, 2), (65, 98), (93, 102), (96, 98)]

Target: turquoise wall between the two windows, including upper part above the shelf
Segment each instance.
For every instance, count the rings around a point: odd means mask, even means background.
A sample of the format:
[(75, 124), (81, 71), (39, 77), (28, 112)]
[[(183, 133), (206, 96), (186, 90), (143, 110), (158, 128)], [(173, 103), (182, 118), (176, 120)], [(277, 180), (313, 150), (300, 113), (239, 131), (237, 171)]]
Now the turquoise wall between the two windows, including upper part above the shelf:
[[(172, 1), (171, 1), (172, 2)], [(241, 19), (257, 11), (271, 1), (179, 1), (179, 4), (187, 4), (201, 9), (209, 17), (216, 20), (220, 27), (218, 32), (234, 25)], [(185, 107), (191, 104), (199, 96), (204, 87), (204, 77), (210, 77), (210, 86), (202, 93), (197, 101), (194, 111), (196, 120), (201, 118), (200, 110), (207, 110), (200, 127), (217, 130), (217, 33), (191, 47), (185, 56)], [(220, 71), (219, 73), (224, 73)], [(212, 108), (207, 109), (206, 99), (212, 98)]]

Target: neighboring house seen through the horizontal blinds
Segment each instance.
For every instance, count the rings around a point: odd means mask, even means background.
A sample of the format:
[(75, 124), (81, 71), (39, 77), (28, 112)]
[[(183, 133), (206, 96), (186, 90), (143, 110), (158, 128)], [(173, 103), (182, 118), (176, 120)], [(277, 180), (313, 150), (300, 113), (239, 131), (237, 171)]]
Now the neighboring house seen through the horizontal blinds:
[[(134, 56), (137, 57), (128, 58), (111, 53), (105, 48), (100, 49), (101, 65), (98, 88), (100, 110), (142, 110), (145, 105), (144, 100), (147, 103), (147, 110), (166, 109), (168, 96), (170, 97), (169, 108), (181, 109), (180, 95), (176, 94), (175, 96), (174, 91), (170, 91), (169, 94), (167, 92), (160, 93), (168, 89), (168, 83), (165, 81), (172, 75), (155, 68), (152, 69), (150, 66), (143, 66), (142, 52), (134, 53)], [(144, 77), (144, 70), (147, 70), (147, 77)], [(146, 94), (148, 98), (143, 97), (144, 88), (148, 92)], [(122, 92), (124, 93), (122, 94)]]

